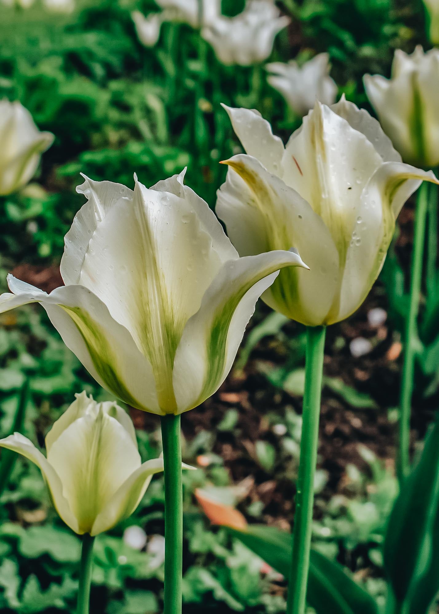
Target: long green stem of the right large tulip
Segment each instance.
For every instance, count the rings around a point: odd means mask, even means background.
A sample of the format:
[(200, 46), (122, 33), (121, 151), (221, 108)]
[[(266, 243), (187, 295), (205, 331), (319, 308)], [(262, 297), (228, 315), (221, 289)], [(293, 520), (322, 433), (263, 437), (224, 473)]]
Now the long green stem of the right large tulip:
[(306, 605), (325, 332), (326, 328), (321, 326), (306, 329), (305, 391), (287, 614), (304, 614)]

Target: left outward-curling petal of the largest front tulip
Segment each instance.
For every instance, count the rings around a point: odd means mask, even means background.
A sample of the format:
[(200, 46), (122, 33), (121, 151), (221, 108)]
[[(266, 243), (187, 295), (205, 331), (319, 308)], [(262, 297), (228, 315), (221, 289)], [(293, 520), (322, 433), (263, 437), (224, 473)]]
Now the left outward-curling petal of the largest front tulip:
[(102, 301), (83, 286), (61, 286), (49, 295), (8, 276), (17, 295), (0, 297), (0, 313), (40, 302), (66, 346), (98, 383), (125, 403), (161, 413), (154, 376), (129, 331), (116, 322)]

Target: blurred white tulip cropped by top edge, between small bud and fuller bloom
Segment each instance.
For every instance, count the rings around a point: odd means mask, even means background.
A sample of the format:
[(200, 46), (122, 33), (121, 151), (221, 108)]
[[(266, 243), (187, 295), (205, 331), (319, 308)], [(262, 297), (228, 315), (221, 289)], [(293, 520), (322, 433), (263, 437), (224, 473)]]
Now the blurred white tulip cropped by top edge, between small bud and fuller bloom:
[[(156, 0), (164, 20), (182, 21), (192, 28), (213, 23), (221, 14), (221, 0)], [(201, 19), (200, 19), (201, 13)]]

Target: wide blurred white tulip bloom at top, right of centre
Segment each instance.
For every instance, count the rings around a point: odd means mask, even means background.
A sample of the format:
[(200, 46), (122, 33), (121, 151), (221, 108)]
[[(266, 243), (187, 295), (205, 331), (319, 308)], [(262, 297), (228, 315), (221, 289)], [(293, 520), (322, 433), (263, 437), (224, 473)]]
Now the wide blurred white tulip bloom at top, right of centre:
[(271, 0), (249, 0), (236, 17), (219, 17), (202, 29), (223, 64), (250, 66), (267, 59), (277, 33), (290, 23)]

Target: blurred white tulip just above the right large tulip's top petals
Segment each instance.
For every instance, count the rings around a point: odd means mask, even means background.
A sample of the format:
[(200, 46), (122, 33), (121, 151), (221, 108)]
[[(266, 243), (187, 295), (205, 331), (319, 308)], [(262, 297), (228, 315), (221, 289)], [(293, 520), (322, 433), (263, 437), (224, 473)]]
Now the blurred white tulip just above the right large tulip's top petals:
[(300, 67), (296, 61), (290, 60), (288, 64), (267, 64), (266, 69), (272, 73), (267, 77), (269, 84), (282, 94), (300, 117), (314, 107), (316, 100), (324, 104), (335, 102), (337, 85), (329, 76), (328, 53), (319, 53)]

